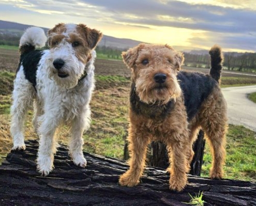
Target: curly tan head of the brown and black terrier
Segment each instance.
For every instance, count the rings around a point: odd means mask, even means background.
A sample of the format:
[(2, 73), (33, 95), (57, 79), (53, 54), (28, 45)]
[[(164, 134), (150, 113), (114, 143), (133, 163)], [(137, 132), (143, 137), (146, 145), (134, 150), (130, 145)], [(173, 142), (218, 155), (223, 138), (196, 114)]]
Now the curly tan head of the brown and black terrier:
[(131, 68), (131, 79), (141, 101), (166, 104), (180, 95), (176, 76), (184, 61), (182, 53), (168, 45), (139, 44), (122, 57)]

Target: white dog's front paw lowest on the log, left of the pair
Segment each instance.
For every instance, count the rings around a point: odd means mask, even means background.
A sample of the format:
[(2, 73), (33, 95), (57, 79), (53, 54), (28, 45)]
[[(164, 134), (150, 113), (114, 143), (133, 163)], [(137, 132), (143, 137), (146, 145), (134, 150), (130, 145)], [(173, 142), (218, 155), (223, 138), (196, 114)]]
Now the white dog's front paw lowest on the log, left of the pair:
[(37, 158), (37, 171), (42, 176), (49, 175), (50, 171), (53, 169), (53, 157), (51, 156), (39, 156)]

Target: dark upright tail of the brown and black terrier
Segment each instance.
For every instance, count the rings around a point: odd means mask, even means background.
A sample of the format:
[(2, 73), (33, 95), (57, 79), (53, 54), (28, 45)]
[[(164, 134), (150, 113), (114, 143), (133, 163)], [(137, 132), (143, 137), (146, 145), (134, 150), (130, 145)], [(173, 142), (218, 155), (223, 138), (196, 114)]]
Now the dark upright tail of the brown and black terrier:
[(210, 55), (210, 76), (213, 77), (218, 83), (220, 83), (220, 75), (222, 70), (223, 54), (221, 52), (221, 47), (214, 45), (209, 50)]

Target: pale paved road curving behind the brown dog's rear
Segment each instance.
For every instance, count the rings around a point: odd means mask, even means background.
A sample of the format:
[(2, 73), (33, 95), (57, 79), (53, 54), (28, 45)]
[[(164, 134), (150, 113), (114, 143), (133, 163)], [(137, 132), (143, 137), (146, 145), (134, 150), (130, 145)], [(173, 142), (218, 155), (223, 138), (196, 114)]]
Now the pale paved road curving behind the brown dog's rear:
[(256, 104), (247, 98), (248, 94), (256, 92), (256, 85), (221, 90), (228, 103), (229, 123), (256, 131)]

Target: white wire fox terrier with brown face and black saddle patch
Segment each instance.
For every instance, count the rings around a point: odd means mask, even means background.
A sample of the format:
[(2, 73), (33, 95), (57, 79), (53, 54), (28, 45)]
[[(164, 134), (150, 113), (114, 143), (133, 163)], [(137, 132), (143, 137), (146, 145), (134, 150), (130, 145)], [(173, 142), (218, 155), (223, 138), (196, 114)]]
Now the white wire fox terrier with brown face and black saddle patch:
[(34, 102), (33, 125), (39, 135), (37, 169), (48, 175), (53, 169), (58, 126), (71, 129), (70, 155), (74, 164), (86, 166), (82, 134), (91, 122), (94, 85), (94, 48), (102, 33), (83, 24), (57, 24), (48, 31), (50, 49), (37, 50), (47, 41), (43, 29), (28, 28), (20, 39), (20, 63), (11, 106), (12, 150), (25, 149), (24, 123)]

